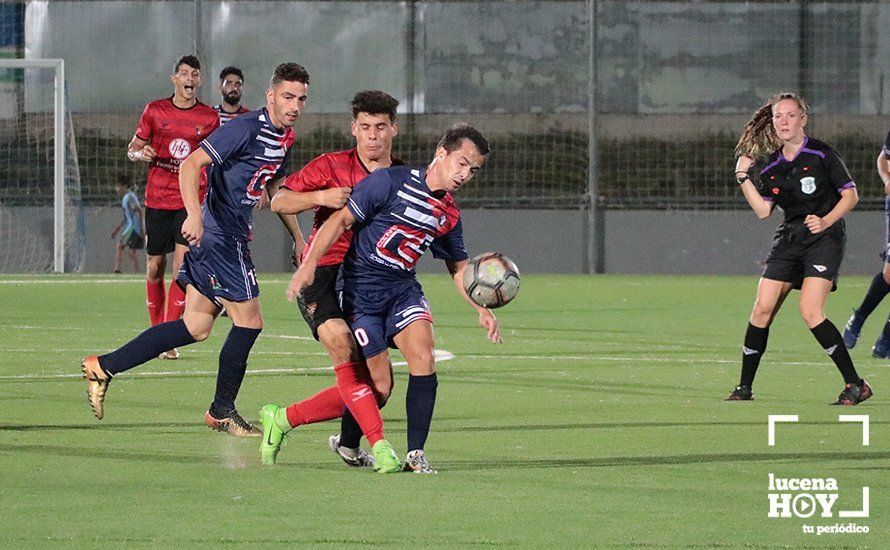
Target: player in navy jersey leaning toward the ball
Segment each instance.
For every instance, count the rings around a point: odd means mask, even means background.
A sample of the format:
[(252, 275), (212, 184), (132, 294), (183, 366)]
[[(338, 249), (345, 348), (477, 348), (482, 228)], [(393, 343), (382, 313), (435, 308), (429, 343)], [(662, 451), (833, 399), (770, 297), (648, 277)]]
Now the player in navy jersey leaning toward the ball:
[[(288, 285), (289, 299), (303, 292), (313, 283), (325, 252), (344, 232), (353, 231), (343, 261), (343, 311), (373, 378), (391, 372), (390, 346), (408, 362), (408, 471), (435, 473), (424, 453), (438, 386), (432, 314), (414, 271), (428, 248), (445, 261), (458, 292), (478, 312), (488, 338), (501, 339), (495, 316), (474, 304), (463, 289), (468, 255), (460, 211), (451, 196), (482, 168), (488, 153), (488, 142), (478, 130), (458, 124), (445, 132), (427, 167), (375, 171), (355, 187), (346, 208), (316, 233)], [(351, 409), (351, 401), (346, 403)]]

